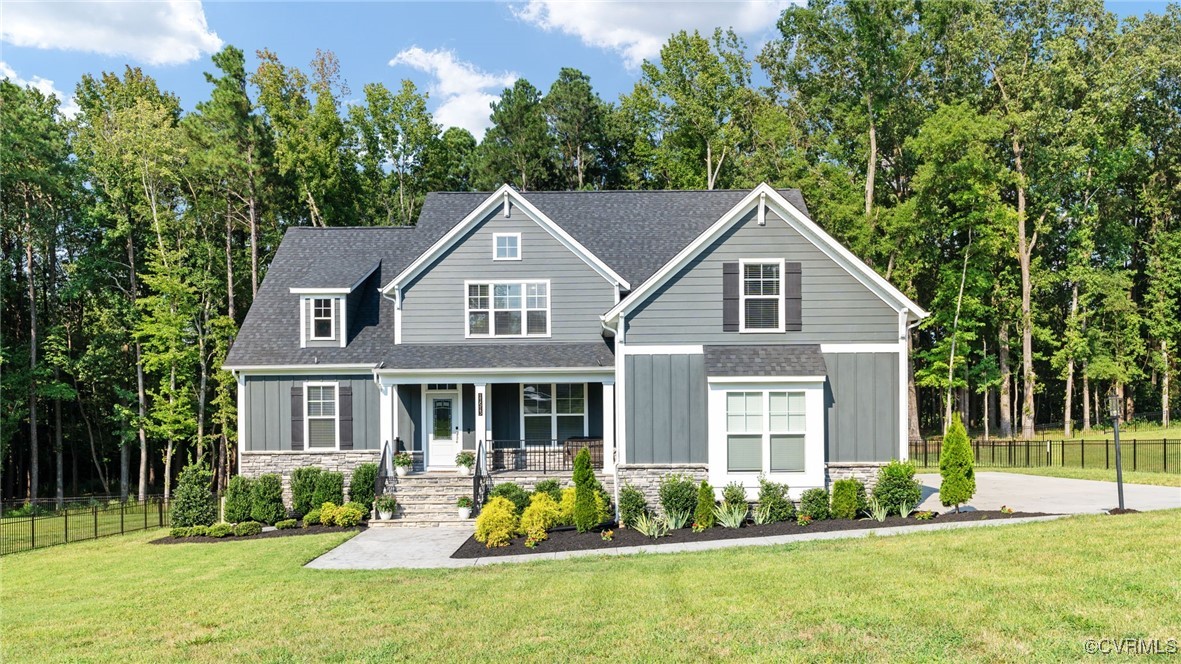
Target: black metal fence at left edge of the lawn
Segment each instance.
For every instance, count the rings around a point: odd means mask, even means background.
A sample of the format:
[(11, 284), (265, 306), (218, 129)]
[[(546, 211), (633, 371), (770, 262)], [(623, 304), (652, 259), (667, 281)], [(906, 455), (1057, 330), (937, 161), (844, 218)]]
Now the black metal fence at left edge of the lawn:
[(0, 512), (0, 555), (31, 551), (106, 535), (119, 535), (148, 528), (163, 528), (171, 522), (164, 496), (144, 501), (119, 501), (118, 497), (38, 500), (19, 507), (4, 506)]

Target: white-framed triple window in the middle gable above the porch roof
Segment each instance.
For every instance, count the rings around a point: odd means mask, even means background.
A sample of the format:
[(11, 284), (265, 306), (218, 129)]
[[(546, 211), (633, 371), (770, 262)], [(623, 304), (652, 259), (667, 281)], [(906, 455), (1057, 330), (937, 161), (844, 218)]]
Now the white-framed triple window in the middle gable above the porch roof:
[(468, 284), (469, 337), (548, 337), (549, 282)]

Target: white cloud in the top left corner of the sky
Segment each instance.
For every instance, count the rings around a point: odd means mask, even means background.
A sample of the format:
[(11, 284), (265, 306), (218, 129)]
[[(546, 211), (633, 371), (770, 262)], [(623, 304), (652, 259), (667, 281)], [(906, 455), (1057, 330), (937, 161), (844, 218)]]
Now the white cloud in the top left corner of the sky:
[(5, 2), (0, 39), (14, 46), (189, 63), (221, 48), (200, 1)]

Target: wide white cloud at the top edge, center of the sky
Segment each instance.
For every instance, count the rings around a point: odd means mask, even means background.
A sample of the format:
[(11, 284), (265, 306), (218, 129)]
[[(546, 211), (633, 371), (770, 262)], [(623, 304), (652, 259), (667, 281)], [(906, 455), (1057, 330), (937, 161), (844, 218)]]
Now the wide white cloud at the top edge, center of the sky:
[(587, 46), (615, 51), (631, 67), (660, 53), (678, 31), (733, 28), (758, 34), (775, 27), (789, 0), (731, 0), (710, 2), (612, 2), (529, 0), (514, 7), (521, 20), (542, 30), (573, 34)]

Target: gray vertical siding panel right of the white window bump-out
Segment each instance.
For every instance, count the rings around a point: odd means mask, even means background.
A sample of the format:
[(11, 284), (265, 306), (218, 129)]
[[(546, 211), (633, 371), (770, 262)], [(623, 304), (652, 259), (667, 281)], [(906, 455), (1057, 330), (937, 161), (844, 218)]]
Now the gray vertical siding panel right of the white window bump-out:
[(829, 462), (899, 456), (898, 353), (824, 353)]

